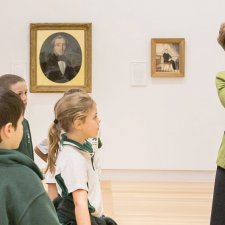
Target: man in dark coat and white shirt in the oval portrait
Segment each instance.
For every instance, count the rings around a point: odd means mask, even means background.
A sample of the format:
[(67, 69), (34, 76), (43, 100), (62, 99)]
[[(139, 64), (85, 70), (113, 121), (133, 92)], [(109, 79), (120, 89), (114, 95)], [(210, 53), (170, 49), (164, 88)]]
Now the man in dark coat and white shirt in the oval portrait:
[(73, 66), (71, 60), (65, 55), (67, 39), (63, 35), (57, 35), (51, 41), (52, 52), (47, 55), (40, 54), (40, 66), (45, 76), (56, 83), (66, 83), (72, 80), (80, 70), (79, 66)]

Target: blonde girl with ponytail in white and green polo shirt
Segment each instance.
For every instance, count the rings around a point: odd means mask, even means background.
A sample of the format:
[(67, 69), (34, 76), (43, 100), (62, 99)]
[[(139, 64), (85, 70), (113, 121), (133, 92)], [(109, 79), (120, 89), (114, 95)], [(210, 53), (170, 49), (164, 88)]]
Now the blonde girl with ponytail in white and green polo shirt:
[(96, 103), (86, 93), (70, 94), (56, 103), (54, 111), (55, 120), (48, 134), (47, 169), (55, 174), (62, 197), (56, 208), (60, 222), (70, 225), (116, 224), (103, 216), (94, 151), (86, 141), (98, 134), (100, 120)]

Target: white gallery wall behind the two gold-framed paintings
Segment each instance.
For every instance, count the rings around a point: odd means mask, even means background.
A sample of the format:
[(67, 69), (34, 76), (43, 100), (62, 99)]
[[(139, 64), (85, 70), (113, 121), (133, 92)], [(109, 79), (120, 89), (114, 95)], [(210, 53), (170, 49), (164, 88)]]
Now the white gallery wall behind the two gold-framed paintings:
[[(92, 96), (101, 118), (103, 169), (214, 170), (225, 130), (215, 74), (225, 70), (216, 38), (224, 0), (1, 1), (0, 74), (29, 85), (29, 24), (92, 23)], [(185, 38), (185, 76), (150, 76), (150, 39)], [(132, 86), (132, 63), (146, 85)], [(137, 75), (137, 74), (136, 74)], [(30, 93), (33, 144), (47, 135), (62, 93)], [(42, 166), (40, 160), (37, 163)]]

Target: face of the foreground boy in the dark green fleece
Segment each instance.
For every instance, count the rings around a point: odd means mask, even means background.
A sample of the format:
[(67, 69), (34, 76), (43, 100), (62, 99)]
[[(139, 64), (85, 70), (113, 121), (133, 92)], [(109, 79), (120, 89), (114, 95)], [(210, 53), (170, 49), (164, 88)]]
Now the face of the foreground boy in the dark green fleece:
[(12, 131), (12, 135), (10, 137), (10, 140), (11, 140), (11, 148), (12, 149), (17, 149), (20, 145), (20, 142), (22, 140), (22, 137), (23, 137), (23, 116), (20, 116), (18, 122), (17, 122), (17, 126), (16, 128), (12, 128), (13, 131)]

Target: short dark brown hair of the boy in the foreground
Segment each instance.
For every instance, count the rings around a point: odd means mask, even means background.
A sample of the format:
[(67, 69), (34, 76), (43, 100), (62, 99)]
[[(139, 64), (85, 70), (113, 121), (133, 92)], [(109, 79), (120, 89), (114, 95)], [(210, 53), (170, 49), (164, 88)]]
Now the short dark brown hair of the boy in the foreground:
[(17, 94), (0, 87), (0, 129), (7, 123), (12, 123), (12, 126), (16, 128), (19, 118), (24, 114), (24, 110), (24, 104)]

